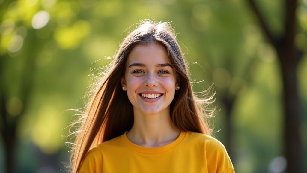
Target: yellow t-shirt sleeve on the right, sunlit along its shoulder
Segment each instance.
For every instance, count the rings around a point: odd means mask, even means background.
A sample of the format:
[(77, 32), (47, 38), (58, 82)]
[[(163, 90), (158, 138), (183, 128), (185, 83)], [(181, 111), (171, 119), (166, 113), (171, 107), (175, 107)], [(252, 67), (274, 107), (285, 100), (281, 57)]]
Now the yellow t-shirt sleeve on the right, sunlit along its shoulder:
[(212, 137), (206, 143), (208, 172), (235, 173), (231, 159), (224, 145)]

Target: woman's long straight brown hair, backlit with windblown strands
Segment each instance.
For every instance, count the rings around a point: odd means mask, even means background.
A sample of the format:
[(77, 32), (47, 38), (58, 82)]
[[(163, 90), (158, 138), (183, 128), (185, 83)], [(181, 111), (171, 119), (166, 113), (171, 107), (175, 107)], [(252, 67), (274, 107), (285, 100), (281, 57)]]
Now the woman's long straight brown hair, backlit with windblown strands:
[[(212, 85), (205, 91), (193, 92), (187, 61), (178, 45), (171, 22), (143, 20), (121, 43), (117, 54), (106, 70), (98, 75), (99, 80), (91, 89), (91, 100), (80, 111), (78, 119), (70, 126), (77, 129), (68, 137), (75, 138), (71, 144), (69, 167), (76, 173), (87, 152), (104, 141), (122, 135), (132, 128), (134, 122), (133, 106), (120, 79), (124, 76), (125, 63), (130, 50), (137, 44), (162, 43), (177, 72), (180, 90), (177, 90), (170, 104), (170, 118), (174, 125), (183, 131), (193, 131), (212, 135), (208, 118), (215, 108), (208, 106), (214, 102), (209, 93)], [(198, 94), (198, 95), (197, 95)]]

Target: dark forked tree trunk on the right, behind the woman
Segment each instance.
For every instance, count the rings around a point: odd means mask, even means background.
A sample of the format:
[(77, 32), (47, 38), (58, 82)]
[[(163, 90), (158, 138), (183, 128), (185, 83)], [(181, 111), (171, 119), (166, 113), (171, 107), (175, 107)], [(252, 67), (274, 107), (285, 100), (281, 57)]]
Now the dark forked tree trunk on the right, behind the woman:
[(254, 0), (248, 0), (270, 43), (275, 47), (281, 63), (284, 89), (284, 151), (287, 173), (302, 173), (304, 170), (302, 143), (300, 139), (301, 109), (297, 91), (297, 64), (302, 57), (294, 45), (296, 34), (297, 0), (285, 0), (285, 33), (276, 38), (269, 30)]

